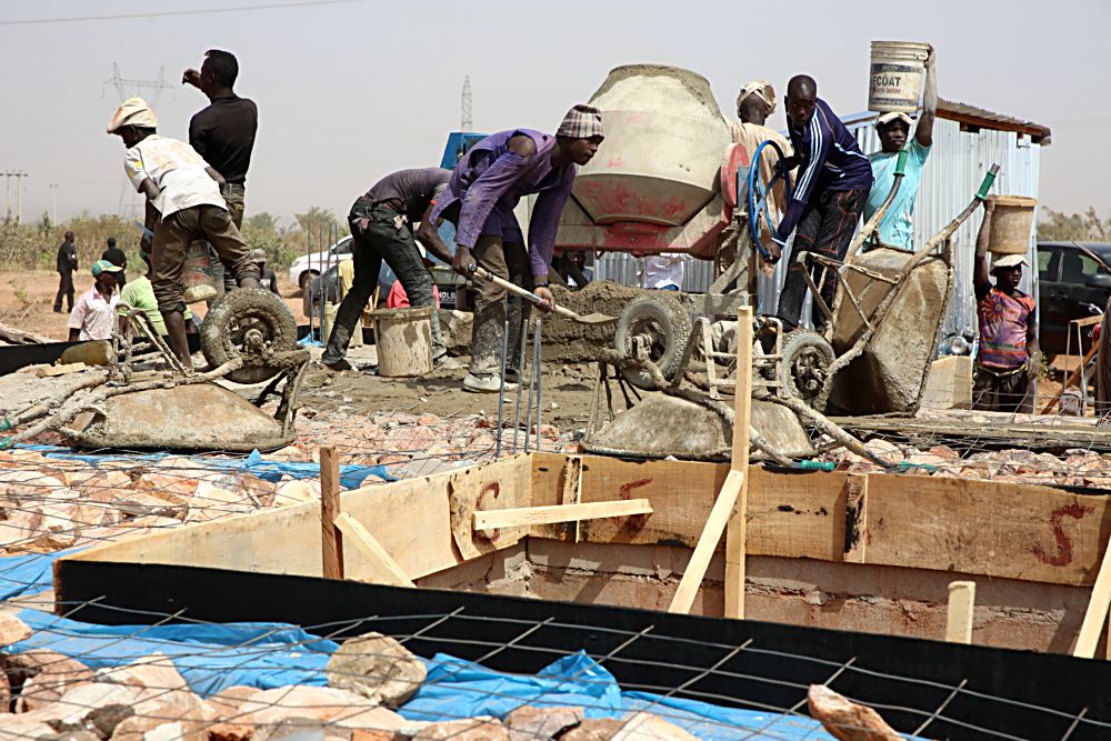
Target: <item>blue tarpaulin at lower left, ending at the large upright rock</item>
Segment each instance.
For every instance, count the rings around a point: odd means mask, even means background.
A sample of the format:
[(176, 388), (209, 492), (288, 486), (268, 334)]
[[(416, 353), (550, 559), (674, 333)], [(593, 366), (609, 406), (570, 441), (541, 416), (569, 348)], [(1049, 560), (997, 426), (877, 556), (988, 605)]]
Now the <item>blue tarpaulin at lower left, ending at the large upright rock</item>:
[(339, 647), (282, 623), (94, 625), (38, 610), (19, 619), (34, 634), (10, 653), (50, 649), (91, 669), (122, 667), (143, 657), (169, 657), (190, 689), (210, 697), (236, 684), (268, 690), (327, 684), (324, 668)]

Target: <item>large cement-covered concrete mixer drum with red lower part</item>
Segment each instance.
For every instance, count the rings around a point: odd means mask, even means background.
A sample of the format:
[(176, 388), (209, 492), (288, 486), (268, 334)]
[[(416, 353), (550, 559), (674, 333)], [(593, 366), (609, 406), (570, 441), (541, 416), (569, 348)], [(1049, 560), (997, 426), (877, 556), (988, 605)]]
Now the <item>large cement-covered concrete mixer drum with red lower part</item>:
[(574, 197), (594, 223), (677, 227), (718, 192), (721, 153), (732, 142), (710, 83), (661, 64), (612, 70), (590, 104), (605, 141), (579, 168)]

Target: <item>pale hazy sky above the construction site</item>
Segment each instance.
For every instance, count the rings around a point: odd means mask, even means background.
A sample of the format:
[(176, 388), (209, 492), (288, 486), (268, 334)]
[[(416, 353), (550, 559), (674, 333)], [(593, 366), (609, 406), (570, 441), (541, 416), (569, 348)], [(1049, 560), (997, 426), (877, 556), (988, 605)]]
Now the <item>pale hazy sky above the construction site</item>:
[[(166, 68), (173, 89), (161, 91), (159, 132), (186, 139), (190, 116), (207, 101), (179, 84), (182, 70), (199, 67), (206, 49), (234, 52), (237, 91), (260, 112), (247, 211), (289, 223), (309, 206), (342, 217), (381, 176), (439, 163), (447, 132), (459, 128), (464, 74), (476, 131), (551, 131), (612, 67), (630, 62), (705, 76), (727, 114), (745, 80), (771, 80), (782, 94), (790, 76), (808, 72), (845, 116), (865, 108), (872, 39), (932, 41), (943, 98), (1052, 127), (1053, 143), (1042, 151), (1042, 203), (1111, 214), (1108, 0), (366, 0), (11, 23), (284, 1), (0, 0), (0, 171), (30, 173), (24, 220), (50, 208), (52, 182), (61, 218), (117, 211), (123, 148), (104, 133), (119, 104), (104, 84), (113, 62), (124, 78), (142, 80)], [(153, 102), (151, 91), (143, 93)], [(783, 126), (781, 111), (771, 126)]]

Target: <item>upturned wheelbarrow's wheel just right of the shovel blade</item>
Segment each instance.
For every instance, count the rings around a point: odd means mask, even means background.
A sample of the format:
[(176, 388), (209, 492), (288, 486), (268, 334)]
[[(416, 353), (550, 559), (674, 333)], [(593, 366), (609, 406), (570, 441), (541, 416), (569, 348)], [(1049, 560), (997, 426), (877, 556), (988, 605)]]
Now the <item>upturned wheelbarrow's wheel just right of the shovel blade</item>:
[[(682, 360), (683, 346), (691, 333), (691, 320), (682, 304), (671, 297), (639, 296), (624, 308), (613, 334), (618, 352), (635, 357), (635, 341), (648, 344), (648, 357), (672, 380)], [(652, 390), (655, 383), (647, 371), (622, 369), (630, 383), (638, 389)]]

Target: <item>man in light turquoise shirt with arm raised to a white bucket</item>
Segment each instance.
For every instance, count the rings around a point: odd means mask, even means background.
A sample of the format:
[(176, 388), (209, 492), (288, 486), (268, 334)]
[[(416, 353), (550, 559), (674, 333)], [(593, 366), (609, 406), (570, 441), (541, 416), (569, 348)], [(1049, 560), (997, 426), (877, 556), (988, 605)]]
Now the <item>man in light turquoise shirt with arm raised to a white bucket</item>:
[(872, 190), (864, 203), (864, 221), (872, 218), (883, 201), (888, 199), (895, 181), (895, 161), (899, 152), (907, 149), (905, 174), (899, 186), (887, 213), (878, 229), (879, 242), (900, 250), (913, 250), (914, 202), (922, 184), (922, 168), (933, 147), (933, 120), (938, 112), (938, 79), (933, 69), (934, 52), (930, 47), (925, 59), (925, 91), (922, 94), (922, 116), (914, 127), (914, 137), (907, 143), (913, 119), (905, 113), (884, 113), (875, 121), (875, 133), (880, 139), (880, 151), (870, 154), (872, 163)]

